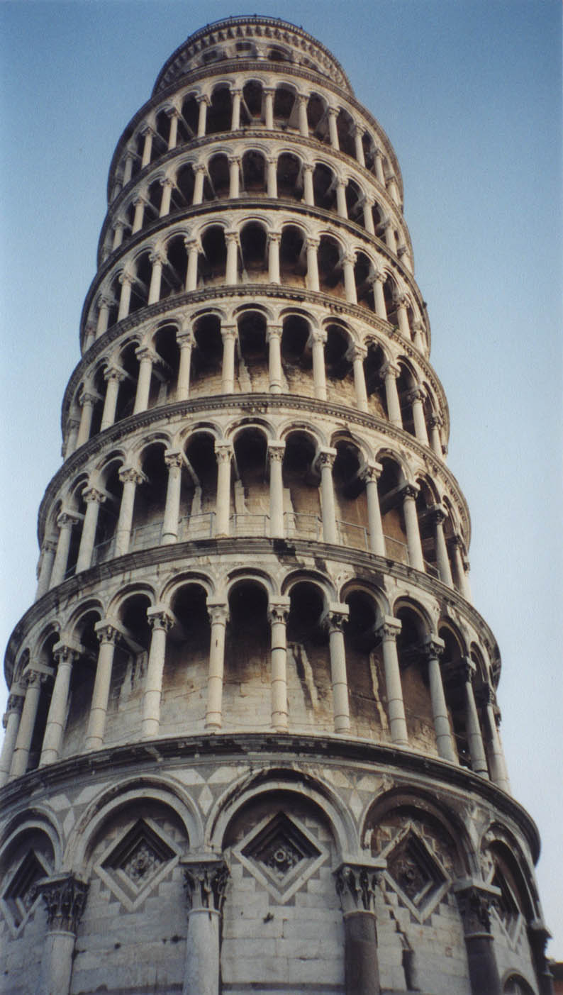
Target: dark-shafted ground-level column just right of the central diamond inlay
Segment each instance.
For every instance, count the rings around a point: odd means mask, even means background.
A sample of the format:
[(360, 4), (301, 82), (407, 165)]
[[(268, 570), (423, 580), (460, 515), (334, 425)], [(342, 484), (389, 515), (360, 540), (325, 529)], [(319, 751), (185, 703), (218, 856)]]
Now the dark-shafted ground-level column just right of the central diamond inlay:
[(346, 862), (335, 871), (344, 917), (344, 991), (380, 995), (375, 890), (385, 861)]

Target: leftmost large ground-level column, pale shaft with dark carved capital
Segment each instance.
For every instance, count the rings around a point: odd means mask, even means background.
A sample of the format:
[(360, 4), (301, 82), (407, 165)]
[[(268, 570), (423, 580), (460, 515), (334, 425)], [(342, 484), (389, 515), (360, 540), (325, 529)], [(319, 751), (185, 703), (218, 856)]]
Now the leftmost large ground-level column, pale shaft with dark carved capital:
[(73, 874), (54, 875), (38, 883), (47, 906), (47, 935), (36, 995), (69, 995), (75, 943), (89, 886)]

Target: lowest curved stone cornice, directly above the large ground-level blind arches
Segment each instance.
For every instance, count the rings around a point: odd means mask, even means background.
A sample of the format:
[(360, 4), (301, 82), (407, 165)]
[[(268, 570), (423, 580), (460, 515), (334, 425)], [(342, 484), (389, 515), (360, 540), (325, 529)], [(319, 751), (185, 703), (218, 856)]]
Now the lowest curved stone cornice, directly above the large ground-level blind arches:
[(377, 764), (379, 768), (386, 768), (391, 776), (399, 779), (405, 776), (409, 789), (415, 792), (417, 787), (428, 791), (429, 779), (433, 779), (437, 789), (449, 794), (454, 792), (459, 802), (470, 801), (474, 804), (475, 800), (482, 801), (512, 820), (525, 837), (534, 864), (537, 863), (540, 843), (534, 821), (521, 805), (490, 781), (473, 774), (466, 767), (414, 750), (337, 735), (210, 733), (114, 746), (69, 757), (18, 777), (0, 789), (0, 799), (7, 815), (8, 806), (11, 807), (9, 817), (13, 818), (25, 810), (32, 798), (37, 804), (42, 792), (62, 788), (71, 780), (76, 783), (81, 777), (89, 785), (95, 778), (101, 780), (107, 777), (118, 783), (120, 778), (131, 777), (135, 772), (150, 775), (153, 768), (161, 777), (163, 761), (166, 761), (166, 771), (173, 779), (175, 764), (193, 764), (196, 759), (201, 762), (207, 759), (214, 762), (227, 762), (229, 759), (250, 761), (257, 757), (263, 764), (270, 762), (278, 770), (285, 764), (293, 771), (302, 772), (301, 776), (305, 777), (310, 777), (310, 763), (322, 766), (350, 763), (355, 772), (358, 768), (373, 770), (373, 765)]

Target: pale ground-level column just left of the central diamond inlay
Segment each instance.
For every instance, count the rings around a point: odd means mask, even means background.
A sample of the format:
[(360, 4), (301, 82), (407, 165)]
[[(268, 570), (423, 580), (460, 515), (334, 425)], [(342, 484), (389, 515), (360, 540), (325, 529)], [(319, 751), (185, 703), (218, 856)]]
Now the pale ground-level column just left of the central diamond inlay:
[(221, 987), (221, 916), (229, 880), (222, 857), (185, 858), (188, 898), (186, 973), (182, 995), (219, 995)]

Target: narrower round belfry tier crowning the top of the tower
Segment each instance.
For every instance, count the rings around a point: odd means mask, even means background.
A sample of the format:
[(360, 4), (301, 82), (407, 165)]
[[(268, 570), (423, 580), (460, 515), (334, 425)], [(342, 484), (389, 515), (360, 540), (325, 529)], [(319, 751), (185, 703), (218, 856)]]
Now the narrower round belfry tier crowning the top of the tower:
[(154, 85), (153, 95), (192, 70), (231, 59), (257, 59), (302, 66), (353, 94), (340, 63), (320, 42), (287, 21), (253, 14), (215, 21), (190, 35), (165, 62)]

